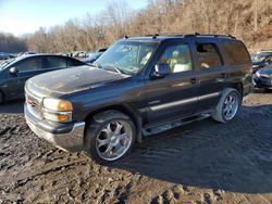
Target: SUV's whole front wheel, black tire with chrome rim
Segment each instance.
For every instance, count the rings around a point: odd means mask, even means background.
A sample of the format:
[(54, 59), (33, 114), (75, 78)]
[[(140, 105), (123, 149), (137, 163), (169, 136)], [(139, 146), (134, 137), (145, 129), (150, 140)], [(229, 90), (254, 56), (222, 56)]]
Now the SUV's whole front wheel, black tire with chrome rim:
[(125, 114), (110, 110), (96, 114), (87, 125), (85, 148), (88, 156), (99, 164), (114, 162), (133, 148), (136, 128)]

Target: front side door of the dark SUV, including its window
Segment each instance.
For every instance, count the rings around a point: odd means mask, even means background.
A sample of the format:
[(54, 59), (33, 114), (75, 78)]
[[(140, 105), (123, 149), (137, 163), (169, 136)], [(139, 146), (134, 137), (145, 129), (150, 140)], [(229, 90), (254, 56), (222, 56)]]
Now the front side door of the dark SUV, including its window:
[(147, 79), (146, 103), (149, 126), (190, 116), (197, 109), (199, 79), (194, 69), (190, 43), (172, 41), (161, 49), (153, 63), (168, 63), (171, 74), (164, 78)]

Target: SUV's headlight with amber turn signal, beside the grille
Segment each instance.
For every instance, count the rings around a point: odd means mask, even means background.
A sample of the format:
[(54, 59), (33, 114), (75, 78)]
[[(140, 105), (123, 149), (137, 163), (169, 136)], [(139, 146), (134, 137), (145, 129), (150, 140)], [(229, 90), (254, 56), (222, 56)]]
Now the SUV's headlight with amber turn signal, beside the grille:
[(42, 115), (51, 122), (71, 122), (72, 120), (72, 104), (65, 100), (45, 99)]

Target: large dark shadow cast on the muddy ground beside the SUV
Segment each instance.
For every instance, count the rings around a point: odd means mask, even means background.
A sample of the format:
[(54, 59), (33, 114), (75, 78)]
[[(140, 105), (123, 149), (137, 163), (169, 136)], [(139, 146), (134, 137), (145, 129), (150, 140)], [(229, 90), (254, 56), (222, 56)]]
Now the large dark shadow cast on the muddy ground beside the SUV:
[(243, 106), (227, 124), (211, 118), (144, 139), (111, 167), (183, 186), (272, 192), (272, 105)]

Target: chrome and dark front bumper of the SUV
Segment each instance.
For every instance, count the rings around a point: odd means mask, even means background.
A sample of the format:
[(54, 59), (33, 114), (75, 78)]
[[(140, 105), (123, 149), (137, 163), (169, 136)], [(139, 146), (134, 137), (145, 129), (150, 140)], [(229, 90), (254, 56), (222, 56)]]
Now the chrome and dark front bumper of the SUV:
[(35, 118), (29, 113), (27, 105), (25, 105), (24, 112), (27, 125), (38, 137), (64, 151), (77, 152), (84, 150), (84, 122), (69, 124), (65, 128), (65, 124), (55, 126), (55, 124), (50, 125), (46, 120)]

